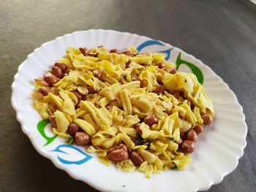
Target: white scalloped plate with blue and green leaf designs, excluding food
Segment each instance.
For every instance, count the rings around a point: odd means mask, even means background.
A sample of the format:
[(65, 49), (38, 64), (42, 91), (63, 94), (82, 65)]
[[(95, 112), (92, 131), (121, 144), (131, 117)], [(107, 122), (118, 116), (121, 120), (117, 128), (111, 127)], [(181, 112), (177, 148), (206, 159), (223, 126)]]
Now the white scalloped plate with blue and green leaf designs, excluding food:
[[(199, 135), (196, 151), (192, 153), (192, 164), (187, 169), (163, 171), (153, 174), (150, 179), (140, 172), (121, 172), (115, 166), (101, 164), (96, 156), (86, 153), (83, 147), (67, 145), (64, 139), (53, 135), (46, 121), (40, 121), (42, 118), (32, 106), (34, 79), (42, 77), (58, 58), (63, 57), (67, 47), (99, 45), (118, 50), (135, 46), (141, 53), (148, 50), (165, 53), (168, 61), (179, 66), (178, 70), (189, 72), (192, 69), (198, 80), (203, 82), (214, 104), (216, 116), (211, 126)], [(244, 114), (227, 84), (192, 55), (148, 37), (101, 29), (67, 34), (34, 50), (20, 64), (14, 79), (12, 107), (17, 112), (23, 132), (31, 139), (36, 150), (71, 177), (83, 180), (99, 191), (206, 190), (220, 183), (225, 175), (236, 168), (246, 146)]]

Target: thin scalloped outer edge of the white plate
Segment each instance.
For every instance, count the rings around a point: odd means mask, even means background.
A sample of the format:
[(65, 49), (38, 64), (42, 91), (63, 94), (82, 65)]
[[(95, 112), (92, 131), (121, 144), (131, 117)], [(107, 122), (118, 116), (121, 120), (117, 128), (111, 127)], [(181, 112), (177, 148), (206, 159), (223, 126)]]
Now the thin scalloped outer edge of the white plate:
[[(21, 125), (23, 133), (26, 134), (27, 137), (29, 137), (29, 130), (28, 130), (28, 128), (26, 128), (26, 125), (23, 123), (22, 118), (20, 117), (21, 115), (20, 115), (20, 112), (18, 111), (18, 107), (15, 104), (15, 96), (13, 94), (15, 92), (16, 80), (17, 80), (17, 77), (18, 77), (18, 74), (19, 74), (20, 70), (22, 69), (22, 67), (26, 63), (26, 61), (31, 57), (31, 55), (33, 55), (37, 50), (41, 49), (45, 45), (48, 45), (48, 44), (50, 44), (52, 42), (55, 42), (56, 39), (62, 39), (64, 37), (72, 36), (72, 35), (77, 34), (77, 33), (84, 33), (84, 32), (89, 32), (89, 31), (107, 31), (107, 32), (109, 31), (109, 32), (114, 32), (114, 33), (119, 33), (119, 34), (127, 34), (127, 35), (136, 36), (136, 37), (143, 37), (143, 38), (146, 38), (146, 39), (152, 39), (151, 37), (146, 37), (146, 36), (143, 36), (143, 35), (133, 34), (133, 33), (129, 33), (129, 32), (116, 31), (116, 30), (112, 30), (112, 29), (89, 29), (89, 30), (86, 30), (86, 31), (74, 31), (74, 32), (72, 32), (70, 34), (64, 34), (63, 36), (56, 37), (55, 39), (53, 39), (53, 40), (51, 40), (49, 42), (45, 42), (40, 47), (37, 47), (36, 49), (34, 49), (33, 52), (30, 53), (26, 57), (26, 59), (20, 64), (20, 66), (18, 66), (18, 72), (14, 75), (14, 81), (12, 82), (12, 85), (11, 85), (11, 87), (12, 87), (12, 96), (11, 96), (12, 108), (15, 110), (16, 118), (17, 118), (18, 122)], [(162, 42), (161, 40), (157, 40), (157, 41)], [(168, 43), (165, 43), (165, 42), (162, 42), (162, 43), (164, 45), (167, 45), (167, 46), (170, 46), (170, 47), (174, 47), (174, 46), (172, 46), (172, 45), (170, 45)], [(178, 47), (175, 47), (175, 48), (178, 49), (178, 50), (181, 50)], [(219, 178), (219, 180), (211, 181), (211, 183), (208, 183), (208, 186), (206, 188), (195, 188), (195, 191), (198, 191), (198, 190), (205, 191), (205, 190), (208, 190), (209, 188), (211, 188), (212, 185), (217, 185), (217, 184), (221, 183), (222, 180), (224, 179), (224, 177), (227, 176), (227, 174), (230, 174), (231, 172), (233, 172), (234, 169), (236, 169), (236, 167), (238, 166), (238, 160), (244, 155), (244, 148), (246, 147), (246, 135), (247, 135), (247, 132), (248, 132), (248, 128), (247, 128), (247, 125), (246, 125), (246, 122), (245, 122), (245, 115), (244, 115), (244, 112), (243, 112), (243, 107), (241, 106), (241, 104), (239, 104), (238, 99), (236, 97), (236, 94), (230, 89), (229, 85), (227, 85), (227, 83), (222, 80), (222, 77), (219, 77), (219, 75), (217, 75), (209, 66), (207, 66), (206, 64), (203, 64), (203, 62), (200, 59), (195, 58), (194, 55), (191, 55), (191, 54), (185, 52), (184, 50), (181, 50), (181, 51), (182, 51), (182, 53), (185, 53), (186, 55), (189, 55), (190, 57), (192, 57), (192, 59), (196, 60), (200, 65), (205, 66), (208, 70), (211, 71), (212, 74), (214, 74), (214, 77), (217, 77), (220, 80), (220, 82), (222, 82), (222, 84), (225, 85), (227, 91), (230, 92), (233, 95), (234, 99), (236, 99), (236, 105), (238, 105), (238, 107), (239, 107), (239, 112), (241, 112), (241, 117), (242, 117), (244, 126), (246, 128), (246, 131), (245, 131), (245, 133), (243, 135), (244, 146), (241, 147), (241, 154), (236, 157), (236, 166), (234, 166), (233, 169), (230, 169), (228, 172), (222, 173), (222, 175)], [(67, 172), (67, 174), (69, 174), (70, 177), (74, 178), (75, 180), (81, 180), (81, 181), (91, 185), (93, 188), (96, 188), (99, 191), (105, 191), (104, 188), (101, 188), (98, 185), (94, 185), (94, 183), (91, 183), (88, 180), (83, 180), (83, 178), (78, 177), (77, 175), (75, 175), (72, 172), (70, 172), (69, 169), (67, 169), (65, 166), (60, 164), (59, 161), (54, 160), (52, 155), (48, 155), (48, 152), (45, 152), (44, 150), (42, 150), (42, 147), (39, 147), (38, 145), (36, 145), (36, 143), (34, 142), (33, 139), (31, 139), (31, 137), (29, 137), (29, 139), (31, 140), (31, 143), (32, 143), (33, 147), (37, 150), (37, 152), (40, 155), (44, 156), (45, 158), (50, 159), (50, 161), (58, 169), (64, 170), (65, 172)]]

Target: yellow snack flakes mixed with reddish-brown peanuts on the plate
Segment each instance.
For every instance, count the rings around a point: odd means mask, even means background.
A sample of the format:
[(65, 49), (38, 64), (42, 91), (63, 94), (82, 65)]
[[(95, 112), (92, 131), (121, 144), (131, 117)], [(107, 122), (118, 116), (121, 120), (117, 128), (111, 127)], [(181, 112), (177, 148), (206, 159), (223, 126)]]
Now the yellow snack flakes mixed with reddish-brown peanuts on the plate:
[(160, 53), (69, 47), (42, 79), (34, 106), (53, 132), (99, 161), (146, 177), (184, 169), (214, 107), (192, 73)]

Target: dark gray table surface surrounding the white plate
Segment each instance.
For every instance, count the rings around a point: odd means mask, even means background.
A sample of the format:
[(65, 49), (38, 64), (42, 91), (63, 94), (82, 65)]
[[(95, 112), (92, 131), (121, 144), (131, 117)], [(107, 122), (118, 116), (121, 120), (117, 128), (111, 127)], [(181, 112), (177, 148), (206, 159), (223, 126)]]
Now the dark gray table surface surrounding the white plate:
[(244, 107), (247, 146), (238, 167), (209, 191), (256, 191), (256, 5), (249, 0), (1, 0), (0, 191), (96, 191), (34, 150), (10, 104), (13, 76), (29, 53), (90, 28), (160, 39), (200, 58), (222, 77)]

